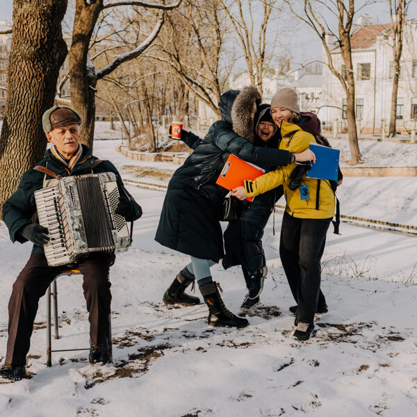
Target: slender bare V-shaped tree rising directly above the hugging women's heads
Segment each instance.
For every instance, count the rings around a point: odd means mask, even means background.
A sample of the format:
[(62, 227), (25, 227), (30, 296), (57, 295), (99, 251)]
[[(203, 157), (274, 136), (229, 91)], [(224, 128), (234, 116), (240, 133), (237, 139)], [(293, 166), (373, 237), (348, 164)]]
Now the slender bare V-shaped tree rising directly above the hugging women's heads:
[[(219, 0), (219, 3), (224, 13), (229, 17), (234, 31), (238, 36), (246, 61), (247, 71), (249, 72), (250, 82), (256, 85), (262, 95), (263, 75), (265, 70), (268, 69), (267, 58), (273, 55), (273, 50), (270, 50), (270, 53), (267, 54), (268, 44), (266, 42), (266, 35), (268, 23), (271, 21), (272, 11), (277, 7), (277, 0), (247, 1), (247, 8), (245, 10), (243, 0)], [(259, 8), (263, 10), (263, 17), (259, 28), (256, 30), (254, 16), (259, 15)]]

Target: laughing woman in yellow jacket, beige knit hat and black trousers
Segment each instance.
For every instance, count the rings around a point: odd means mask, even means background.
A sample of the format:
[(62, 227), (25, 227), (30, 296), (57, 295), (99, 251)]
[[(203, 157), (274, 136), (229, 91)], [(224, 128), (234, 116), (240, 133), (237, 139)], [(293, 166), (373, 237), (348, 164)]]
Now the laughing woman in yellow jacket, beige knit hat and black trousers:
[[(320, 133), (320, 121), (313, 113), (300, 115), (297, 93), (292, 88), (281, 88), (272, 97), (271, 114), (281, 130), (279, 149), (302, 152), (310, 143), (316, 143)], [(288, 284), (297, 302), (294, 336), (308, 340), (314, 329), (314, 314), (321, 304), (327, 311), (324, 296), (319, 300), (321, 266), (326, 234), (334, 215), (335, 197), (327, 180), (302, 178), (294, 188), (291, 173), (297, 167), (291, 163), (277, 167), (254, 181), (245, 180), (243, 187), (234, 188), (232, 195), (239, 199), (256, 197), (281, 184), (284, 186), (286, 208), (281, 225), (279, 254)]]

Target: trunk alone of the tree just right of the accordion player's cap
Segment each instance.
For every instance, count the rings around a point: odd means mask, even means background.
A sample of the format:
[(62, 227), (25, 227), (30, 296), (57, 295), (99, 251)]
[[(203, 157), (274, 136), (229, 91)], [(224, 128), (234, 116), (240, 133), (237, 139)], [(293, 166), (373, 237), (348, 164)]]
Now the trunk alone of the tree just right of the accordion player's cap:
[(68, 54), (70, 59), (71, 103), (83, 119), (81, 125), (81, 142), (92, 149), (95, 125), (95, 87), (97, 78), (95, 69), (88, 57), (88, 47), (92, 31), (103, 0), (85, 3), (76, 0), (72, 44)]

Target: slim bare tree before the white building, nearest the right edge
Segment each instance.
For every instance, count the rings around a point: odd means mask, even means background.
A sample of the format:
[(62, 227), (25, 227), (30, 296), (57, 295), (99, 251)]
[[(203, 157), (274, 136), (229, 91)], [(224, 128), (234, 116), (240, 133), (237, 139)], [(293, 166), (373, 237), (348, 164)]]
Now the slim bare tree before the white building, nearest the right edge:
[(389, 119), (389, 136), (394, 137), (397, 133), (397, 95), (398, 80), (400, 79), (400, 60), (402, 54), (402, 35), (407, 9), (411, 0), (389, 0), (392, 26), (393, 47), (393, 92), (391, 95), (391, 115)]

